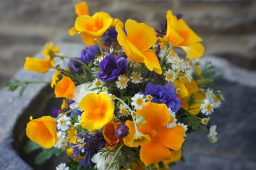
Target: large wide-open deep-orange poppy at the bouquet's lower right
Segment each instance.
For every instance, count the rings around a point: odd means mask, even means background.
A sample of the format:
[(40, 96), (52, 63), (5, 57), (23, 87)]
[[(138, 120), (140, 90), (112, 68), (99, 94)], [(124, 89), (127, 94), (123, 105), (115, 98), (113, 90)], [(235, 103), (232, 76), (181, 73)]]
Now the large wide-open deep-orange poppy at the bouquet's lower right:
[[(140, 148), (140, 160), (147, 166), (171, 159), (170, 149), (178, 150), (184, 142), (185, 131), (183, 127), (179, 125), (173, 128), (166, 127), (170, 115), (165, 104), (148, 101), (142, 110), (137, 110), (137, 113), (147, 120), (146, 125), (138, 127), (138, 130), (143, 134), (150, 135), (151, 138), (148, 144)], [(125, 145), (136, 133), (133, 131), (133, 121), (126, 121), (126, 126), (129, 127), (129, 135), (124, 138)]]

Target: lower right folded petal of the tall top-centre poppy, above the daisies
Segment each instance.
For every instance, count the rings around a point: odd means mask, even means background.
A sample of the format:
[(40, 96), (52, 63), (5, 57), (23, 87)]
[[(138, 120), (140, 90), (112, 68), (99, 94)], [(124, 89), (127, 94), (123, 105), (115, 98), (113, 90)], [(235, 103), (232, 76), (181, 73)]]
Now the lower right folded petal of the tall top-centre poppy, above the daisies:
[(154, 70), (158, 74), (162, 74), (161, 66), (156, 53), (153, 50), (147, 50), (143, 53), (145, 55), (144, 62), (150, 71)]

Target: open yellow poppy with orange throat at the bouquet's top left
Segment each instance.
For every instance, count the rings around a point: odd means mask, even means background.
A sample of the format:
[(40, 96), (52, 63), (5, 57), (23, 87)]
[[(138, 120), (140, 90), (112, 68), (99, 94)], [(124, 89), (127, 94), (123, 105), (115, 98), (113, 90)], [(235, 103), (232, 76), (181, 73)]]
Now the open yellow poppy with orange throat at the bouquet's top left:
[(93, 16), (78, 16), (75, 28), (78, 33), (85, 32), (92, 37), (102, 36), (112, 24), (113, 18), (106, 12), (96, 12)]

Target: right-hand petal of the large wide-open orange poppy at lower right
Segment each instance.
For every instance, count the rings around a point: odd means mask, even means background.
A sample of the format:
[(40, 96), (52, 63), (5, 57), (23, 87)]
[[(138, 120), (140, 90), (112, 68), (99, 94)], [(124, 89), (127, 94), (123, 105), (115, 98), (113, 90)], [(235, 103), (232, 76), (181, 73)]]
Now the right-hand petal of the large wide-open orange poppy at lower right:
[(173, 150), (180, 149), (184, 142), (185, 131), (182, 126), (175, 126), (172, 128), (167, 128), (166, 126), (158, 130), (158, 135), (156, 139), (166, 147)]

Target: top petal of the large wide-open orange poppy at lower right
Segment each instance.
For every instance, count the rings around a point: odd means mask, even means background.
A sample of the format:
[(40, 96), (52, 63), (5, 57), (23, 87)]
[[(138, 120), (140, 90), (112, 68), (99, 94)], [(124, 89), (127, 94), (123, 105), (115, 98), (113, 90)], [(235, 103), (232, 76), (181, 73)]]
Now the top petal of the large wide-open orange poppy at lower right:
[(169, 111), (165, 104), (147, 101), (142, 110), (137, 110), (137, 113), (147, 120), (145, 127), (148, 130), (157, 130), (164, 127), (170, 120)]

